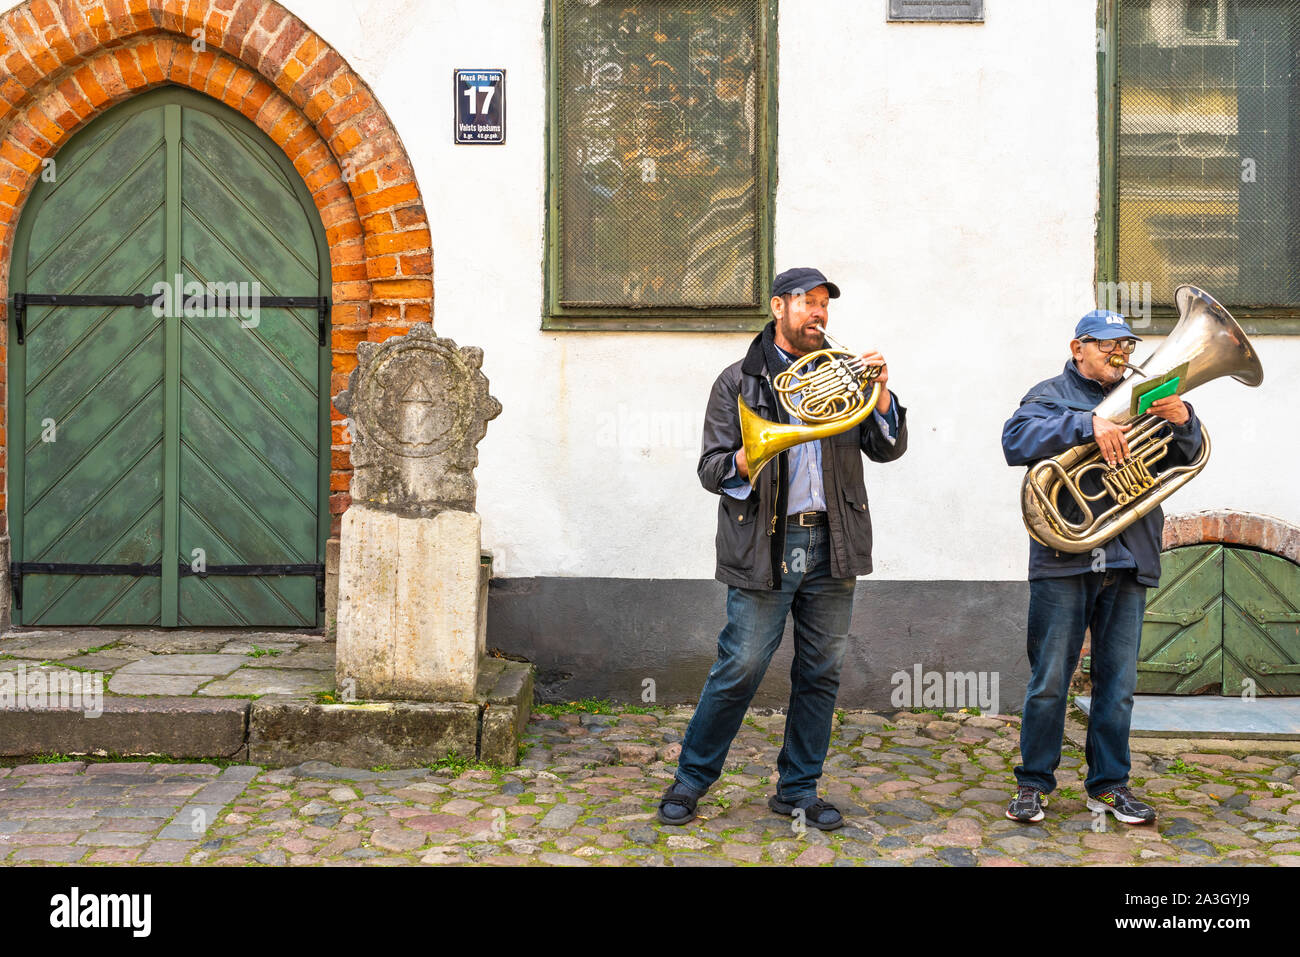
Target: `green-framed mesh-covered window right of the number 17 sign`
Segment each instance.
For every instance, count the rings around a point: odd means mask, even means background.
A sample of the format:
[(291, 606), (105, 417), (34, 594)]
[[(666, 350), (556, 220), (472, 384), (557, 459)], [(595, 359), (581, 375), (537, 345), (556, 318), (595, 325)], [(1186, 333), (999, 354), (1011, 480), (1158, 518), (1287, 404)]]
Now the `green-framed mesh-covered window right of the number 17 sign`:
[(547, 0), (543, 329), (768, 319), (776, 0)]

